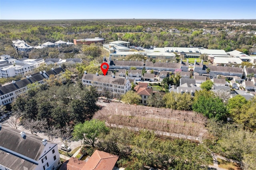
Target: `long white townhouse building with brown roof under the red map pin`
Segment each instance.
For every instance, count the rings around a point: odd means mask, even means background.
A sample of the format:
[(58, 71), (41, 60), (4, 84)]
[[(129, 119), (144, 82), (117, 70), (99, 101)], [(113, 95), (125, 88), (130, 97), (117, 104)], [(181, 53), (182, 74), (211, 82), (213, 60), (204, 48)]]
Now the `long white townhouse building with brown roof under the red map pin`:
[(113, 76), (110, 78), (109, 76), (99, 75), (98, 73), (89, 74), (85, 72), (82, 77), (82, 83), (87, 87), (96, 87), (99, 93), (106, 90), (117, 96), (121, 96), (131, 89), (131, 83), (128, 77), (121, 78)]

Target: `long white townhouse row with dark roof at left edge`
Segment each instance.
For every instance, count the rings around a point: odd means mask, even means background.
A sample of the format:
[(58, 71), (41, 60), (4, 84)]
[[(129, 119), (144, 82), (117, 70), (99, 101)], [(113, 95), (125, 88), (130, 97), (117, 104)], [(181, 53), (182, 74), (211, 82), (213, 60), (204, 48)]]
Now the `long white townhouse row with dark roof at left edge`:
[(26, 79), (20, 81), (12, 81), (11, 84), (0, 87), (0, 105), (6, 105), (11, 103), (18, 95), (25, 93), (28, 90), (28, 85), (31, 83), (44, 84), (46, 80), (50, 78), (50, 75), (54, 76), (54, 79), (66, 82), (63, 74), (65, 71), (59, 67), (52, 69), (51, 71), (40, 71), (39, 73), (27, 76)]

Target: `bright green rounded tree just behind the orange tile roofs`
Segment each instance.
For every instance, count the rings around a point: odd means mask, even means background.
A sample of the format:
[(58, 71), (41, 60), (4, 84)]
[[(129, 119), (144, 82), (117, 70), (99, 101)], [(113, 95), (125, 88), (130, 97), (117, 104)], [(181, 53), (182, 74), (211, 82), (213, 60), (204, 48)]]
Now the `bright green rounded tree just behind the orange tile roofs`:
[(107, 134), (109, 128), (105, 123), (96, 119), (79, 123), (74, 127), (73, 136), (76, 139), (83, 140), (84, 144), (95, 147), (95, 142), (98, 140), (100, 134)]

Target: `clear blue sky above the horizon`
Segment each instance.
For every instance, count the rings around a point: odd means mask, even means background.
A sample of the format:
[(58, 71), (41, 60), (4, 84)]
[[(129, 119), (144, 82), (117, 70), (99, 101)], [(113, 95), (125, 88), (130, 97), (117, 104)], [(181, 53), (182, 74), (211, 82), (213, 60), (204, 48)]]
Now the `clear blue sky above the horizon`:
[(1, 20), (256, 19), (256, 0), (0, 0)]

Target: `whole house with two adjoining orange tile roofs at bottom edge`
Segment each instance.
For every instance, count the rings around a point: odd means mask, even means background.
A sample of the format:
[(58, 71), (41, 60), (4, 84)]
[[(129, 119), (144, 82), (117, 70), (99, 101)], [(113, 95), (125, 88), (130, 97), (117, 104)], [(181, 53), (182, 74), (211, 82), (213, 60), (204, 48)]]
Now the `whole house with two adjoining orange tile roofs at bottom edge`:
[(118, 156), (95, 150), (87, 162), (71, 157), (66, 160), (60, 170), (114, 170)]

